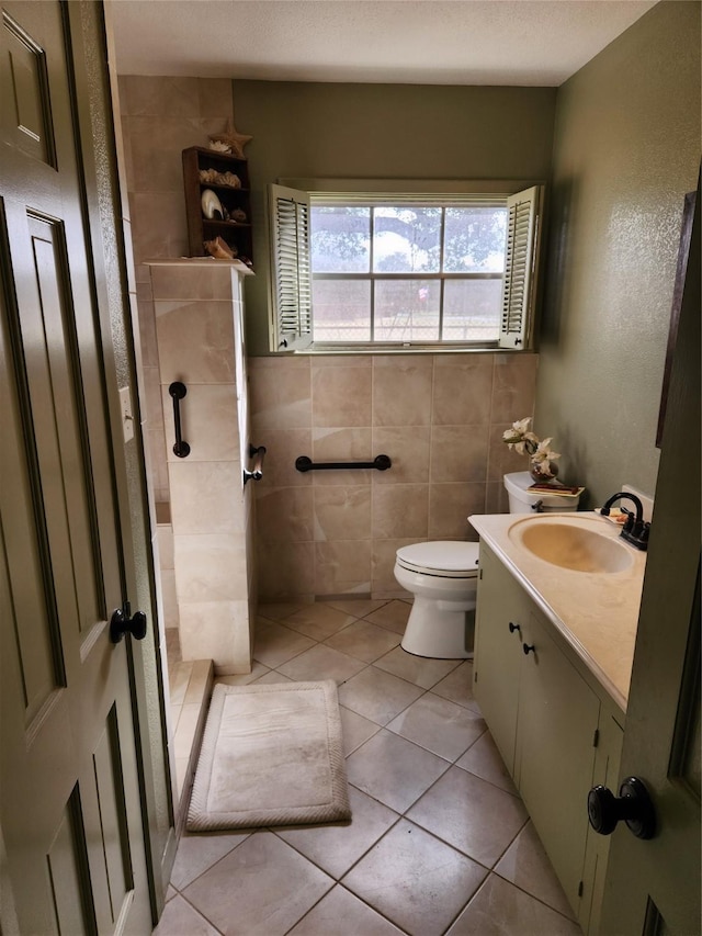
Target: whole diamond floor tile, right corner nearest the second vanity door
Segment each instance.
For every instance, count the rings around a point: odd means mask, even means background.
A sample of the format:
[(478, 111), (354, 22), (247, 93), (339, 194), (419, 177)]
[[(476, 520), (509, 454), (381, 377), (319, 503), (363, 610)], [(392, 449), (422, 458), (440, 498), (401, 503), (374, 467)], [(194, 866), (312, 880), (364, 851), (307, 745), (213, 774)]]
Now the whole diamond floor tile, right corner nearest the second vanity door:
[(457, 767), (407, 813), (412, 822), (491, 868), (526, 822), (520, 799)]

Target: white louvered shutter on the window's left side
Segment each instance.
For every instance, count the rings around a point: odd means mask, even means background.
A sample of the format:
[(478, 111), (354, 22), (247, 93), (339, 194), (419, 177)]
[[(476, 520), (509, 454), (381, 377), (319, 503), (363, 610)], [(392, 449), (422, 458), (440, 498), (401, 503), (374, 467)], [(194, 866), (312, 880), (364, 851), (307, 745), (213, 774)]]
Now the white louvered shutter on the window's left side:
[(312, 343), (309, 268), (309, 195), (269, 185), (273, 351), (294, 351)]

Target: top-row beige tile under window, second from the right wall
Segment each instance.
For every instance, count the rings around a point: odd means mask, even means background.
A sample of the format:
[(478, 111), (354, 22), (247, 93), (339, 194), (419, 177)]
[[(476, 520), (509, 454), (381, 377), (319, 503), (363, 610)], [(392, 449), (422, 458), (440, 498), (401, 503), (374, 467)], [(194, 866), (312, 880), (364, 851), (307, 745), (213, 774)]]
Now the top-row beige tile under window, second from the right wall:
[(437, 358), (432, 397), (432, 424), (475, 426), (490, 421), (492, 393), (491, 359), (464, 354), (461, 359)]

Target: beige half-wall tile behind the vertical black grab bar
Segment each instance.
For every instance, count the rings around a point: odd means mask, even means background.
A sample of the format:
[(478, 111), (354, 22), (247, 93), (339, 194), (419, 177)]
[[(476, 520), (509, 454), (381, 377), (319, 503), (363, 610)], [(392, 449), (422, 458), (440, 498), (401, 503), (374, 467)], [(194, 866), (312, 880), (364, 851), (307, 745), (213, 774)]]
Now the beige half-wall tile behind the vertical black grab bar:
[[(240, 461), (237, 396), (234, 384), (188, 383), (180, 401), (182, 438), (190, 446), (189, 461)], [(176, 425), (173, 401), (168, 386), (161, 387), (166, 452), (169, 461), (178, 461), (173, 452)]]

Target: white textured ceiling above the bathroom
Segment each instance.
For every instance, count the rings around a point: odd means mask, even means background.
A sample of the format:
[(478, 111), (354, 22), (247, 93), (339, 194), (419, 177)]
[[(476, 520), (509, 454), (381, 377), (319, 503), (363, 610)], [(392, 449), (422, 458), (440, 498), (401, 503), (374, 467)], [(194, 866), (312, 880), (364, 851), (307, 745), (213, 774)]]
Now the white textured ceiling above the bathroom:
[(112, 0), (117, 71), (558, 86), (655, 0)]

